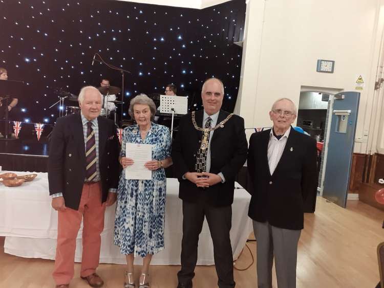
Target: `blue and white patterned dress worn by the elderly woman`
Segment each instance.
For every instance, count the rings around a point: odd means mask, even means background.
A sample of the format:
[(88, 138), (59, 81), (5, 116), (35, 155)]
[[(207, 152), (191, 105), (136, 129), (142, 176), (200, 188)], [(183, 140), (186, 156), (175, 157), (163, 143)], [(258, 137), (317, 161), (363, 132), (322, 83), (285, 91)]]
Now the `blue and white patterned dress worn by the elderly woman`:
[[(170, 157), (171, 138), (165, 126), (151, 123), (144, 141), (138, 125), (123, 131), (120, 156), (125, 157), (125, 143), (152, 144), (152, 159)], [(152, 180), (126, 180), (120, 174), (115, 217), (115, 245), (121, 254), (145, 257), (164, 249), (164, 213), (166, 176), (163, 168), (152, 171)]]

